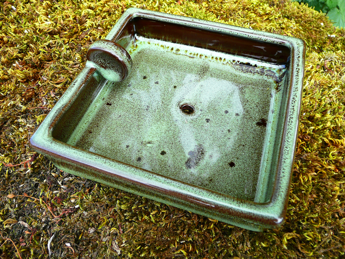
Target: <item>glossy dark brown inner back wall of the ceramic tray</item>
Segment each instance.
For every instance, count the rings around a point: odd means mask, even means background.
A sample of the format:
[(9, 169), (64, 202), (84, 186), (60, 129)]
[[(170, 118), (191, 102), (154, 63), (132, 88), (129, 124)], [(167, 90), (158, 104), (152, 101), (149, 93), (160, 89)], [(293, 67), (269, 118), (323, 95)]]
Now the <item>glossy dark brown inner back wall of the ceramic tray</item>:
[[(134, 31), (130, 33), (128, 26), (134, 26)], [(147, 18), (132, 19), (124, 33), (240, 55), (273, 64), (286, 64), (290, 56), (289, 48), (282, 45)]]

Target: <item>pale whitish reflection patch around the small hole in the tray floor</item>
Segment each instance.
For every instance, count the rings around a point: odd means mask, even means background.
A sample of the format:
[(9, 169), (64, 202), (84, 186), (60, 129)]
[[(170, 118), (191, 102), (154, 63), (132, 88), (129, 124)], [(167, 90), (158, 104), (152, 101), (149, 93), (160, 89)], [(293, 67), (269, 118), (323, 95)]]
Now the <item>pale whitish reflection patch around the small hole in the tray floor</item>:
[[(195, 107), (193, 115), (181, 114), (176, 104), (182, 103)], [(224, 156), (226, 150), (231, 149), (239, 133), (243, 108), (238, 87), (226, 80), (212, 77), (201, 80), (197, 75), (187, 74), (172, 99), (170, 112), (179, 128), (179, 139), (188, 157), (185, 164), (190, 172), (185, 178), (193, 181), (198, 176), (205, 181), (209, 168)], [(226, 131), (227, 140), (224, 141), (223, 133)]]

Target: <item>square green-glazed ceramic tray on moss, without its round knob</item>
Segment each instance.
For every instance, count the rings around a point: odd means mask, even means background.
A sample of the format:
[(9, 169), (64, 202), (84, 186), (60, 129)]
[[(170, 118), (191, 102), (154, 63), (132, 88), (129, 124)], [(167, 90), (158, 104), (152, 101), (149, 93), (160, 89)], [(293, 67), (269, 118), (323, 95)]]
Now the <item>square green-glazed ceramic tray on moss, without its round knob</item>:
[(88, 61), (31, 147), (71, 174), (246, 229), (280, 227), (304, 42), (135, 8), (106, 39), (130, 55), (127, 77), (109, 81)]

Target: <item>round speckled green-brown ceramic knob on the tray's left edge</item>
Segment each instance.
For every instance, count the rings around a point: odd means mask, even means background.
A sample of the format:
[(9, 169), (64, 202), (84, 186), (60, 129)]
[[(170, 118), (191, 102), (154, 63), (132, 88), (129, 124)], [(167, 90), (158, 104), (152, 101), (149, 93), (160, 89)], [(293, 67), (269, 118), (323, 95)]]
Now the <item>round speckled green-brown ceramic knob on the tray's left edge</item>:
[(125, 80), (132, 69), (132, 59), (127, 50), (111, 40), (94, 42), (86, 58), (104, 78), (113, 82)]

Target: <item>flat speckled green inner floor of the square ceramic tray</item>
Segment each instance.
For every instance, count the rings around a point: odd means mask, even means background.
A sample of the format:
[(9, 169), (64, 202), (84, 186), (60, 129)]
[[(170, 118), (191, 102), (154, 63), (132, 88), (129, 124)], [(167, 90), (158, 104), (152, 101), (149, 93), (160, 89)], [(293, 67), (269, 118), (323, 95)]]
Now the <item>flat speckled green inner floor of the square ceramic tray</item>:
[(158, 40), (138, 39), (128, 51), (131, 74), (105, 84), (68, 143), (253, 201), (282, 71)]

